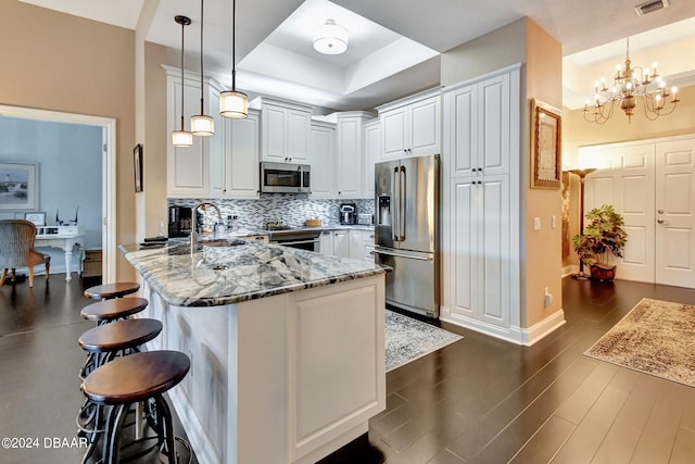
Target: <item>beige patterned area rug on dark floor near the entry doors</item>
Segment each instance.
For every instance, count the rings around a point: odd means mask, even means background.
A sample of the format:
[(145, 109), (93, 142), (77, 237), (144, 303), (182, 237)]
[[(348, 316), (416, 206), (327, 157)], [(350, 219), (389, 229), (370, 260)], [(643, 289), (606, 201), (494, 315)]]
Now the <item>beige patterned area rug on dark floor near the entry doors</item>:
[(695, 387), (695, 306), (643, 298), (584, 354)]

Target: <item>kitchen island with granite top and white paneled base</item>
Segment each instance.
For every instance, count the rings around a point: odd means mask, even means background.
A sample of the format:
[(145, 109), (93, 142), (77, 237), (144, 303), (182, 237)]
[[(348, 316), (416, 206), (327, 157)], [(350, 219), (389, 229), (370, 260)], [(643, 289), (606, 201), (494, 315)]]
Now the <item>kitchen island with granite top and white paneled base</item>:
[(200, 463), (314, 463), (386, 407), (384, 269), (242, 239), (122, 246), (149, 349), (191, 371), (169, 398)]

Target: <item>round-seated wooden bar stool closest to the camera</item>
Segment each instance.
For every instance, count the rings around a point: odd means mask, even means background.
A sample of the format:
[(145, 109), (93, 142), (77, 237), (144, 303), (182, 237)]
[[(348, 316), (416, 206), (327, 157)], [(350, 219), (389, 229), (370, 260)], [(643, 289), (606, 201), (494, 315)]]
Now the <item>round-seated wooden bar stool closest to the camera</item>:
[[(176, 463), (172, 413), (163, 393), (186, 377), (190, 365), (189, 358), (178, 351), (148, 351), (115, 359), (89, 374), (83, 383), (83, 393), (90, 401), (109, 406), (103, 430), (103, 463), (117, 463), (121, 452), (129, 448), (135, 449), (134, 455), (124, 461), (137, 462), (156, 449), (169, 463)], [(149, 405), (147, 424), (155, 435), (122, 446), (126, 414), (132, 404), (141, 402)], [(137, 449), (138, 444), (150, 440), (156, 442), (146, 450)]]

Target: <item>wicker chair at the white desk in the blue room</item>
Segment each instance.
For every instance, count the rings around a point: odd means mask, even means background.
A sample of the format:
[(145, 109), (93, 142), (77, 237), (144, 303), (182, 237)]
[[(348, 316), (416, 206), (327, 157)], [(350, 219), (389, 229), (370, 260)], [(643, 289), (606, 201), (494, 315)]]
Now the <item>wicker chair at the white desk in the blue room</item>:
[(15, 279), (15, 268), (29, 268), (29, 287), (34, 287), (34, 266), (46, 264), (46, 278), (51, 269), (51, 256), (39, 253), (34, 249), (36, 226), (24, 220), (0, 221), (0, 268), (2, 278), (0, 287), (8, 277), (8, 269), (12, 269), (12, 281)]

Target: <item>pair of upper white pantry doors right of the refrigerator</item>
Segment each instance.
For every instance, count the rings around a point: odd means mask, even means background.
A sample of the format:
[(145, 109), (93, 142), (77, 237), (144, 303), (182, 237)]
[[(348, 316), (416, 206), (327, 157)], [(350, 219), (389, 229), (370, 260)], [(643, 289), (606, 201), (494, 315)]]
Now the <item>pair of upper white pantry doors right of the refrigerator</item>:
[(509, 79), (510, 73), (504, 73), (445, 89), (444, 148), (452, 175), (509, 172), (509, 108), (516, 104), (510, 100)]

